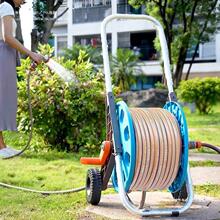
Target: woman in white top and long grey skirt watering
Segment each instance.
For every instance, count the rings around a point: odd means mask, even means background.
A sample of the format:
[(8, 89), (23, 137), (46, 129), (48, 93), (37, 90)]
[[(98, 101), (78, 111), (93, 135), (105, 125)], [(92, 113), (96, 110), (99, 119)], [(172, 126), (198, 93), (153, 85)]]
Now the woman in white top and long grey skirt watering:
[(17, 112), (17, 51), (28, 55), (37, 64), (44, 57), (25, 48), (15, 38), (15, 10), (19, 10), (24, 0), (0, 0), (0, 156), (16, 153), (6, 146), (2, 131), (16, 131)]

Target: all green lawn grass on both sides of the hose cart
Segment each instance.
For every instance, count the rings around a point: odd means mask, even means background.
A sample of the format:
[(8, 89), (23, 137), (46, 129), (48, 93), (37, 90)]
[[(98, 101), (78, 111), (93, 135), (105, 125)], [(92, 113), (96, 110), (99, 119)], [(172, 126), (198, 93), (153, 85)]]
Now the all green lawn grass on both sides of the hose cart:
[[(220, 144), (220, 105), (208, 116), (190, 114), (186, 109), (190, 139), (211, 144)], [(10, 146), (21, 148), (26, 135), (8, 132), (5, 134)], [(43, 140), (34, 136), (31, 150), (19, 158), (0, 160), (0, 181), (38, 190), (60, 190), (83, 186), (87, 166), (79, 163), (80, 155), (48, 151)], [(198, 163), (191, 163), (197, 166)], [(216, 166), (215, 163), (200, 163), (201, 166)], [(217, 164), (219, 166), (219, 164)], [(196, 186), (195, 191), (220, 198), (220, 186)], [(110, 189), (107, 193), (112, 193)], [(86, 219), (85, 192), (44, 196), (0, 188), (0, 219)], [(101, 219), (91, 217), (89, 219)], [(88, 219), (88, 218), (87, 218)]]

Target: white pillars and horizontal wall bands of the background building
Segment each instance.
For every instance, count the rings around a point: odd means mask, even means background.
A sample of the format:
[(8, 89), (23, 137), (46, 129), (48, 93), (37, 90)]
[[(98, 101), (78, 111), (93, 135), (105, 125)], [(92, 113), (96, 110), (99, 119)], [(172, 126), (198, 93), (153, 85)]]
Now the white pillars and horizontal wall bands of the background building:
[[(116, 0), (112, 0), (114, 3), (113, 12), (115, 13)], [(101, 30), (101, 22), (93, 23), (72, 23), (72, 0), (68, 0), (68, 47), (72, 47), (74, 36), (86, 36), (86, 35), (98, 35)], [(152, 31), (155, 30), (152, 24), (147, 21), (117, 21), (112, 22), (107, 26), (107, 33), (113, 33), (113, 52), (117, 46), (115, 35), (117, 32), (140, 32), (140, 31)], [(201, 63), (193, 64), (191, 72), (195, 74), (200, 73), (216, 73), (220, 74), (220, 33), (216, 35), (216, 63)], [(184, 72), (186, 72), (188, 65), (184, 66)], [(141, 69), (146, 75), (160, 75), (162, 70), (159, 62), (142, 62)], [(193, 74), (192, 74), (193, 75)]]

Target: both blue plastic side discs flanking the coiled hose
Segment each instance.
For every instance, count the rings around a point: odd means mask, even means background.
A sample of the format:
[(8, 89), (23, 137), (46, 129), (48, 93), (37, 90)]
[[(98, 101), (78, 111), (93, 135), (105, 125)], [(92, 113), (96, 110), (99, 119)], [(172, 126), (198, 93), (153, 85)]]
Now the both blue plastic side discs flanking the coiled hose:
[[(124, 101), (118, 102), (116, 105), (116, 109), (123, 151), (121, 156), (123, 173), (122, 178), (124, 180), (124, 189), (126, 192), (128, 192), (133, 181), (136, 164), (135, 130), (133, 126), (132, 116), (126, 103)], [(177, 119), (182, 139), (182, 154), (180, 159), (179, 171), (176, 179), (169, 187), (169, 191), (173, 193), (179, 191), (186, 180), (188, 166), (188, 129), (184, 112), (178, 103), (168, 102), (164, 106), (164, 109), (172, 113)], [(114, 189), (118, 191), (116, 168), (114, 168), (112, 173), (112, 183)]]

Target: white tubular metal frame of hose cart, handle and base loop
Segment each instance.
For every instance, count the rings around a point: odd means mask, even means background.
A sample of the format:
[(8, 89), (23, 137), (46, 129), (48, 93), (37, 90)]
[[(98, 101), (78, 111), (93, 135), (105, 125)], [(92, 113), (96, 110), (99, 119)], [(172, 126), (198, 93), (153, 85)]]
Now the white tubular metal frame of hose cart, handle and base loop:
[[(105, 73), (105, 84), (106, 84), (106, 93), (112, 92), (112, 83), (111, 83), (111, 74), (110, 74), (110, 64), (109, 64), (109, 54), (108, 54), (108, 45), (107, 45), (107, 33), (106, 26), (109, 22), (116, 19), (135, 19), (135, 20), (146, 20), (148, 22), (152, 22), (155, 26), (157, 33), (159, 35), (159, 40), (161, 44), (162, 51), (162, 59), (164, 61), (164, 72), (167, 79), (167, 87), (169, 94), (173, 92), (173, 81), (170, 71), (170, 61), (169, 61), (169, 53), (167, 48), (167, 42), (164, 35), (162, 25), (153, 17), (147, 15), (128, 15), (128, 14), (114, 14), (106, 17), (101, 25), (101, 39), (102, 39), (102, 52), (103, 52), (103, 61), (104, 61), (104, 73)], [(114, 140), (113, 140), (114, 141)], [(139, 209), (134, 206), (134, 204), (130, 201), (127, 196), (127, 193), (124, 189), (123, 184), (123, 173), (122, 173), (122, 165), (121, 165), (121, 154), (117, 154), (115, 156), (116, 161), (116, 172), (118, 179), (118, 189), (121, 201), (126, 209), (131, 213), (138, 214), (141, 216), (152, 216), (152, 215), (173, 215), (174, 213), (182, 213), (187, 210), (192, 202), (193, 202), (193, 189), (192, 189), (192, 180), (189, 172), (189, 166), (187, 170), (187, 178), (186, 178), (186, 188), (188, 193), (188, 198), (181, 208), (170, 208), (170, 209), (155, 209), (155, 210), (146, 210)]]

